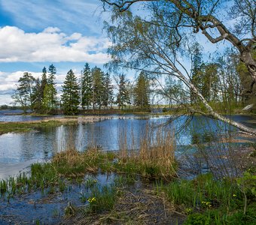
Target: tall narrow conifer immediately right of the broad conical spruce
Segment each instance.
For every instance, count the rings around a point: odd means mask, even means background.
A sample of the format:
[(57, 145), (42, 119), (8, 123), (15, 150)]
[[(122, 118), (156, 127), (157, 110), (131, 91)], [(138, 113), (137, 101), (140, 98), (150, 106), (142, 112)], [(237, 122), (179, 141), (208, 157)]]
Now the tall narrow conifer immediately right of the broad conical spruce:
[(93, 101), (93, 77), (88, 63), (81, 71), (81, 107), (87, 106), (87, 110)]

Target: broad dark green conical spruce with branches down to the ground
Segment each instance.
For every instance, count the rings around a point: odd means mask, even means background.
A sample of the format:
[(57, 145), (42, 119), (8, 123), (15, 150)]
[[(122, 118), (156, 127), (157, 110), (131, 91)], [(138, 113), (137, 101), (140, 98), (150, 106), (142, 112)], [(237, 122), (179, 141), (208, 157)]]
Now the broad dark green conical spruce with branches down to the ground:
[(62, 86), (62, 108), (67, 115), (74, 115), (78, 113), (79, 102), (79, 85), (75, 74), (70, 70)]

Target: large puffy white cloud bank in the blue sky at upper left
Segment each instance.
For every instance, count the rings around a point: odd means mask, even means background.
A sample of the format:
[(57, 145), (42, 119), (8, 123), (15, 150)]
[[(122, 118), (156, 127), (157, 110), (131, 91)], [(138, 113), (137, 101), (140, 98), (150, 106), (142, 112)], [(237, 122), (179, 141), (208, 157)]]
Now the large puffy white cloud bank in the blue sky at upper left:
[(0, 62), (93, 62), (104, 64), (111, 43), (104, 37), (67, 35), (48, 27), (26, 33), (15, 26), (0, 28)]

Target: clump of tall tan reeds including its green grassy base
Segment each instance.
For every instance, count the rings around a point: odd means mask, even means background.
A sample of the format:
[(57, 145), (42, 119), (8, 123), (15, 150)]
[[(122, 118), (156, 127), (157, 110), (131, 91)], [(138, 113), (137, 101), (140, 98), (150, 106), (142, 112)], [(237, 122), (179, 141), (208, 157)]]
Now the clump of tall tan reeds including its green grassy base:
[[(157, 129), (146, 126), (136, 148), (136, 136), (131, 132), (130, 145), (127, 134), (120, 133), (120, 154), (118, 165), (124, 171), (138, 173), (149, 178), (169, 179), (175, 176), (175, 136), (169, 127)], [(117, 166), (118, 167), (118, 166)]]

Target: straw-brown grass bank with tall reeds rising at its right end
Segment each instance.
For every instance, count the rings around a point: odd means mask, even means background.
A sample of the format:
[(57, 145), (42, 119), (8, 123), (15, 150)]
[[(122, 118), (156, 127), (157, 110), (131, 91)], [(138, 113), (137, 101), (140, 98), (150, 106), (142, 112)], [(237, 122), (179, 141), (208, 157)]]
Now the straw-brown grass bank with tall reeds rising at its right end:
[(62, 151), (53, 157), (52, 164), (59, 175), (65, 177), (84, 176), (86, 172), (126, 172), (145, 178), (175, 176), (175, 139), (172, 130), (147, 127), (140, 137), (139, 149), (134, 150), (135, 139), (127, 142), (127, 133), (120, 138), (120, 151), (102, 151), (93, 145), (83, 152), (75, 147)]

